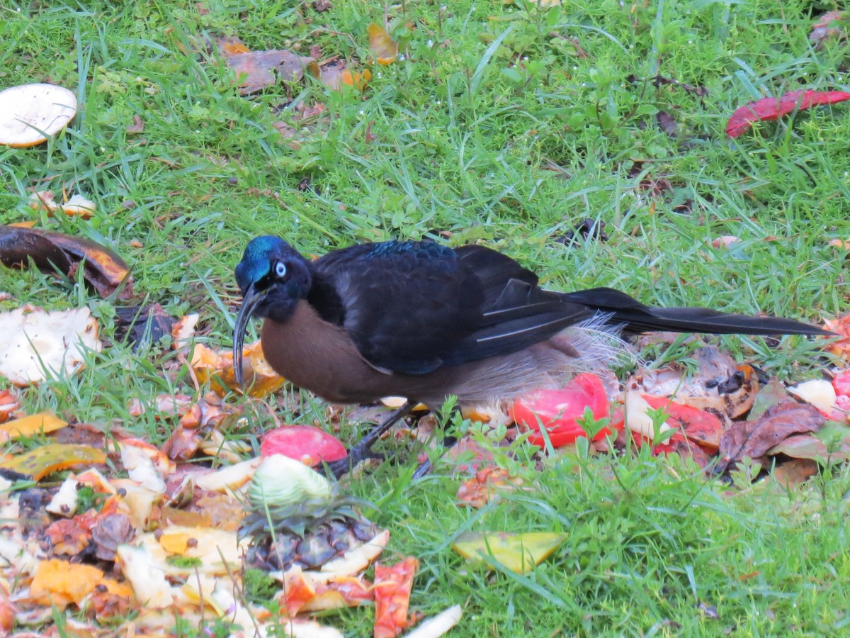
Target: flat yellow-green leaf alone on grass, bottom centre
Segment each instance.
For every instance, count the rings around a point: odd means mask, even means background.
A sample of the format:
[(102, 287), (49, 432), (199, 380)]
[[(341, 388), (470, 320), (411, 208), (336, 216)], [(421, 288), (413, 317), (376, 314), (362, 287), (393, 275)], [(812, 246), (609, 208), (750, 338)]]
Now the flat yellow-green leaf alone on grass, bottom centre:
[(492, 555), (512, 572), (530, 572), (552, 554), (567, 538), (554, 532), (467, 532), (461, 534), (451, 549), (470, 561), (481, 561)]

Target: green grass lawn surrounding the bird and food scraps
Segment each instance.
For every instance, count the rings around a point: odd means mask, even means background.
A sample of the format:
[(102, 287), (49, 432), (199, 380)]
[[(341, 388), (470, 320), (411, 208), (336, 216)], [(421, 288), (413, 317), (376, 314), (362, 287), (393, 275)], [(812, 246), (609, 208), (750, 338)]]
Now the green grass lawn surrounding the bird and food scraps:
[[(848, 44), (808, 42), (812, 16), (832, 3), (336, 0), (322, 14), (274, 0), (201, 4), (208, 13), (163, 0), (0, 7), (0, 86), (59, 83), (82, 104), (58, 139), (0, 149), (0, 222), (36, 217), (105, 242), (133, 266), (137, 293), (175, 315), (200, 312), (213, 345), (229, 345), (232, 269), (258, 233), (324, 253), (450, 231), (452, 244), (500, 248), (552, 288), (609, 285), (647, 303), (814, 322), (847, 309), (846, 253), (827, 242), (850, 238), (850, 108), (766, 122), (734, 142), (723, 133), (749, 100), (850, 86)], [(243, 98), (205, 44), (222, 34), (252, 49), (318, 44), (323, 57), (367, 66), (366, 26), (385, 11), (405, 60), (374, 69), (363, 94), (308, 81)], [(656, 87), (658, 75), (707, 93)], [(297, 105), (315, 103), (326, 110), (314, 126), (292, 122)], [(677, 138), (660, 130), (659, 111), (675, 118)], [(134, 115), (144, 132), (128, 135)], [(281, 139), (279, 120), (297, 138)], [(304, 178), (312, 190), (297, 189)], [(660, 179), (669, 190), (641, 185)], [(31, 190), (63, 187), (97, 202), (94, 219), (26, 208)], [(554, 241), (584, 218), (604, 221), (609, 242)], [(712, 248), (722, 235), (740, 242)], [(114, 299), (35, 271), (0, 270), (0, 291), (14, 295), (2, 309), (90, 305), (113, 336)], [(783, 379), (824, 363), (799, 339), (722, 343)], [(167, 358), (116, 345), (75, 378), (26, 391), (26, 407), (162, 441), (167, 426), (130, 419), (127, 402), (190, 389), (184, 369), (163, 372)], [(280, 407), (302, 422), (322, 413), (320, 402), (303, 409)], [(445, 464), (423, 481), (406, 481), (405, 466), (353, 484), (381, 505), (391, 549), (422, 560), (413, 607), (464, 605), (457, 635), (823, 635), (848, 622), (845, 468), (783, 492), (733, 490), (647, 456), (578, 452), (539, 475), (512, 465), (534, 490), (479, 511), (453, 504)], [(518, 577), (467, 567), (449, 545), (469, 529), (569, 537)], [(338, 618), (329, 621), (348, 635), (370, 630), (369, 611)]]

